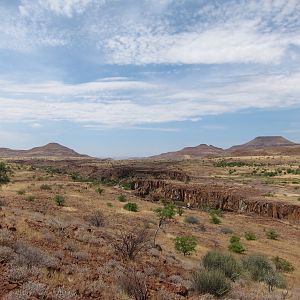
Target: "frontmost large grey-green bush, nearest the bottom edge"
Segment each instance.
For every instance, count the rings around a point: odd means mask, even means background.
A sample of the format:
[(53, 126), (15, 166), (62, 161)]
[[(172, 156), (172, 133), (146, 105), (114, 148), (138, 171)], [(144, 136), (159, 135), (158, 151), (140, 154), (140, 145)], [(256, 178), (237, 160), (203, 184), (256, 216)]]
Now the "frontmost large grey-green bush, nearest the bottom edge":
[(231, 290), (230, 281), (220, 270), (200, 269), (192, 274), (192, 285), (196, 292), (223, 296)]

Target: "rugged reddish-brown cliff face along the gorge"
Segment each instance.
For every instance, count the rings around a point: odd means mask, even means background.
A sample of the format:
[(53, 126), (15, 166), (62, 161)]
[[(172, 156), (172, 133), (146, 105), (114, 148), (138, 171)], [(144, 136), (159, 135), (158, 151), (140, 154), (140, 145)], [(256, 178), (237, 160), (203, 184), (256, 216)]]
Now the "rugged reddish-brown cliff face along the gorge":
[(254, 189), (221, 185), (174, 184), (163, 180), (137, 180), (135, 193), (159, 198), (182, 201), (194, 208), (220, 208), (224, 211), (254, 213), (260, 216), (300, 222), (300, 206), (271, 200), (261, 200)]

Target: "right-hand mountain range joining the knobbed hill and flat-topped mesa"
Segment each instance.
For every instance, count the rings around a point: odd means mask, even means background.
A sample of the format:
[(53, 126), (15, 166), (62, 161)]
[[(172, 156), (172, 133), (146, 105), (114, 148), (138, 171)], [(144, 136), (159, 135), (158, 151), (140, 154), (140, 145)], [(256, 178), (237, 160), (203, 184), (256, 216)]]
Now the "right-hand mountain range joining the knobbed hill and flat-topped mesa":
[(242, 145), (229, 149), (200, 144), (183, 148), (179, 151), (151, 156), (152, 159), (190, 159), (204, 156), (239, 156), (239, 155), (300, 155), (300, 144), (291, 142), (282, 136), (259, 136)]

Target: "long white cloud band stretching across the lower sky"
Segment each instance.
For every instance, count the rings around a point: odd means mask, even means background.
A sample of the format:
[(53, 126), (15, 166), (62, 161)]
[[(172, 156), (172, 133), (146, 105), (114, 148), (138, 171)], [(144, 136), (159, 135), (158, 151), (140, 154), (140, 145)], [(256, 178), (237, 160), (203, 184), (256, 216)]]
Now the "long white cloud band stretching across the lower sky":
[[(30, 85), (30, 88), (12, 84), (6, 87), (6, 94), (0, 97), (1, 121), (39, 123), (43, 120), (67, 120), (90, 128), (140, 127), (154, 123), (193, 121), (206, 115), (250, 108), (300, 106), (299, 82), (300, 72), (244, 78), (217, 86), (207, 85), (205, 88), (190, 88), (171, 82), (168, 86), (157, 82), (135, 82), (126, 86), (127, 95), (123, 98), (119, 93), (120, 82), (114, 80), (105, 82), (109, 84), (109, 94), (103, 86), (95, 90), (78, 89), (75, 85), (73, 93), (70, 86), (63, 83), (58, 85), (58, 92), (43, 83), (35, 87)], [(115, 89), (111, 89), (111, 84), (115, 85)], [(89, 84), (86, 86), (89, 87)], [(24, 88), (23, 93), (21, 87)], [(78, 90), (82, 94), (73, 97)]]

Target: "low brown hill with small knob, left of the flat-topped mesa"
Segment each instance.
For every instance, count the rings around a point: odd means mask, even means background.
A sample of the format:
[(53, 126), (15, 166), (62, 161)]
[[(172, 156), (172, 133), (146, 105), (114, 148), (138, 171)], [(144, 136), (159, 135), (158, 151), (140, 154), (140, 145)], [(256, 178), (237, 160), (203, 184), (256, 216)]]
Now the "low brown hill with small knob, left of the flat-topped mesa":
[(224, 152), (222, 148), (212, 145), (200, 144), (195, 147), (186, 147), (179, 151), (162, 153), (160, 155), (152, 156), (155, 159), (183, 159), (194, 158), (201, 156), (218, 156)]

